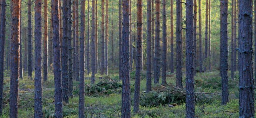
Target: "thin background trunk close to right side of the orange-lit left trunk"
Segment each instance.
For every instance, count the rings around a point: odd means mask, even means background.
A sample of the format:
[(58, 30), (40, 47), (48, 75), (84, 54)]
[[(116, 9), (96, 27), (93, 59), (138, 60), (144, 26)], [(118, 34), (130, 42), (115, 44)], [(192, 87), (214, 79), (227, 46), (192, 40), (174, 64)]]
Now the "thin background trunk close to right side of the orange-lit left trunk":
[[(22, 0), (20, 2), (20, 6), (22, 4)], [(20, 9), (20, 66), (19, 66), (19, 71), (20, 71), (20, 79), (23, 79), (23, 67), (22, 67), (22, 32), (21, 32), (21, 28), (22, 28), (22, 25), (21, 25), (21, 9)]]

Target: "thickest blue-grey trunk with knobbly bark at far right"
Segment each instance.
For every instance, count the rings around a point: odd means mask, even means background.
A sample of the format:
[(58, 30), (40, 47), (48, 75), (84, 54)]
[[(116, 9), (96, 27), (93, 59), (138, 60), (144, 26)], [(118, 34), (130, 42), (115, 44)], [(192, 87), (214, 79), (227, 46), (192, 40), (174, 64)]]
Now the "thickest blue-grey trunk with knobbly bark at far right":
[(253, 3), (240, 0), (239, 13), (239, 117), (254, 118)]

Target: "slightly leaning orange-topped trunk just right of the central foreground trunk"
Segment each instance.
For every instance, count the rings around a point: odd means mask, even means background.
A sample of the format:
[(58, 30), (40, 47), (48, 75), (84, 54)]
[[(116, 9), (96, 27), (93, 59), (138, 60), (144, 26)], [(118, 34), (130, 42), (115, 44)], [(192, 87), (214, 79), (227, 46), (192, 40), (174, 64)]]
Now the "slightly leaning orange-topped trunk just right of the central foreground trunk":
[(134, 92), (134, 107), (133, 107), (134, 112), (139, 111), (141, 61), (142, 61), (141, 55), (142, 55), (142, 0), (138, 0), (137, 1), (137, 58), (136, 58), (137, 60), (136, 60), (135, 92)]

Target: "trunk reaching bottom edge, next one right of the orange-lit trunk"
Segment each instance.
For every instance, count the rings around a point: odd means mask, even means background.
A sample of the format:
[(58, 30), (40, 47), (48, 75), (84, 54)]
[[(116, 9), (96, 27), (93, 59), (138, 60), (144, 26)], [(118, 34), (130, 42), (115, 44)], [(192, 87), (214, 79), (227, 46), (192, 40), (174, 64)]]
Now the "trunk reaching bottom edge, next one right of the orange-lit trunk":
[(43, 118), (42, 0), (35, 1), (35, 118)]

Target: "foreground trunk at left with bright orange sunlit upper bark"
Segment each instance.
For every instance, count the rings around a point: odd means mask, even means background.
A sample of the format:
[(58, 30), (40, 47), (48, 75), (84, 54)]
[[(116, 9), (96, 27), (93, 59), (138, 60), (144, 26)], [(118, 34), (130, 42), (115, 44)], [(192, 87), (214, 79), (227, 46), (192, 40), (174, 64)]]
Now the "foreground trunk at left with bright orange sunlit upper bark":
[(20, 0), (11, 1), (10, 118), (18, 117)]

